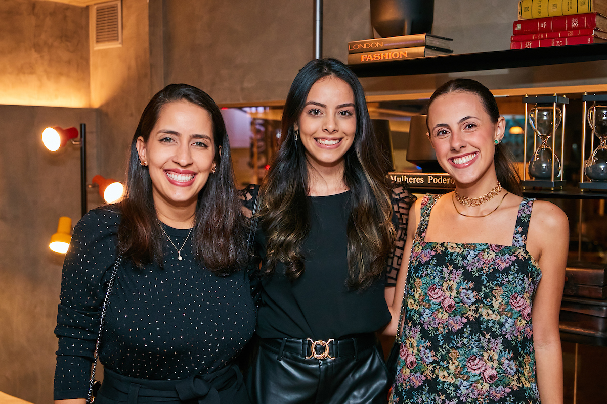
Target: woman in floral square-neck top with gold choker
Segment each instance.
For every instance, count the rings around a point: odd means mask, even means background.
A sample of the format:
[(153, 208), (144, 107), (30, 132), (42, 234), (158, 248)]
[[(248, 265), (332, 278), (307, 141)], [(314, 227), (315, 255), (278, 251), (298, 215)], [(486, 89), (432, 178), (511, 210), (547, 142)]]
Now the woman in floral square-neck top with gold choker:
[(456, 188), (426, 195), (410, 211), (416, 226), (395, 296), (387, 297), (393, 321), (386, 333), (394, 335), (406, 293), (390, 402), (562, 403), (567, 217), (520, 196), (500, 143), (504, 118), (480, 83), (439, 87), (427, 124)]

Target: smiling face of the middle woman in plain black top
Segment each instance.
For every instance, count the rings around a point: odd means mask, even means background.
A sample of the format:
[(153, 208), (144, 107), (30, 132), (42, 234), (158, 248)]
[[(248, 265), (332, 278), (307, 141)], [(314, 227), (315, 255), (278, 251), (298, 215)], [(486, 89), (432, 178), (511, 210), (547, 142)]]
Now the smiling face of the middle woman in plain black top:
[(294, 128), (299, 130), (308, 164), (319, 172), (342, 169), (344, 155), (356, 134), (354, 92), (350, 85), (333, 76), (315, 82)]

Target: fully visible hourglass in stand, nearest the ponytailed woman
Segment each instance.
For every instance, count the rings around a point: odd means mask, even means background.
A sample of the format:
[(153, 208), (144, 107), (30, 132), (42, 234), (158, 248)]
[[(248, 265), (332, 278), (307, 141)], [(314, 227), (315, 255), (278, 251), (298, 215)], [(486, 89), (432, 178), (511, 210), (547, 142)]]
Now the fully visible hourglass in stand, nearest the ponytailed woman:
[[(532, 127), (529, 134), (524, 125), (523, 141), (523, 180), (524, 188), (560, 189), (565, 186), (563, 168), (563, 144), (565, 144), (565, 108), (569, 104), (566, 97), (524, 96), (525, 119)], [(532, 104), (531, 107), (529, 104)], [(560, 129), (560, 130), (559, 130)], [(527, 156), (528, 136), (532, 136), (534, 153)], [(557, 150), (556, 137), (561, 137), (560, 148)]]

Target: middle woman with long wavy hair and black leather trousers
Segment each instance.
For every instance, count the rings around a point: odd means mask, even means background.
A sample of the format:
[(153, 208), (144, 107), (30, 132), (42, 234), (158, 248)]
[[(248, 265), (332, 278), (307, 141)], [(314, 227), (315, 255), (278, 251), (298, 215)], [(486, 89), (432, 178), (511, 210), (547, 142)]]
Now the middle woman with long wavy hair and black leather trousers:
[(336, 59), (299, 71), (280, 142), (259, 191), (245, 193), (263, 264), (251, 399), (385, 402), (375, 331), (390, 321), (412, 197), (387, 179), (362, 86)]

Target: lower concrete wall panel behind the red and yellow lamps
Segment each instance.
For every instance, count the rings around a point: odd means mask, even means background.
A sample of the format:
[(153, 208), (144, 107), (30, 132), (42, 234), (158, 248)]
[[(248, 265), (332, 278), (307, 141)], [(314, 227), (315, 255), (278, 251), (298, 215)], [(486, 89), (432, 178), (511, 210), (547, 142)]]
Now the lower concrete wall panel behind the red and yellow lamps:
[[(59, 216), (80, 219), (80, 151), (42, 145), (48, 126), (87, 124), (89, 182), (97, 170), (96, 111), (0, 105), (0, 391), (52, 402), (63, 255), (49, 250)], [(89, 206), (101, 204), (94, 190)]]

